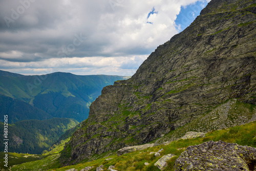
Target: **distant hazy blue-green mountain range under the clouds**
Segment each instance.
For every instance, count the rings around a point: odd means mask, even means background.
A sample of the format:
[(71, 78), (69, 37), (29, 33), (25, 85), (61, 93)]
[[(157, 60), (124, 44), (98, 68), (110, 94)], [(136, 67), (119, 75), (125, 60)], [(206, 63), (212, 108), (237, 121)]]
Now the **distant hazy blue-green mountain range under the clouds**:
[[(24, 119), (88, 118), (89, 106), (104, 86), (122, 76), (52, 73), (24, 76), (0, 72), (0, 114), (10, 122)], [(22, 109), (22, 110), (20, 110)], [(33, 116), (34, 115), (34, 116)]]

